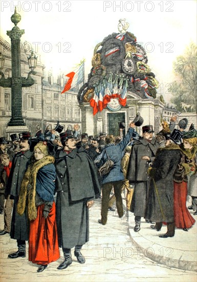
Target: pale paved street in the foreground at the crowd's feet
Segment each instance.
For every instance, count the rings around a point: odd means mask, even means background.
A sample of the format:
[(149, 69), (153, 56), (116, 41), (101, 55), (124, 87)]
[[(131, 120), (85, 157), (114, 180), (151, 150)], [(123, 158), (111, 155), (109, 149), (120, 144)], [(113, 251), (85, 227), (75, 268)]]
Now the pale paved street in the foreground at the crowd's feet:
[[(117, 212), (108, 213), (108, 222), (105, 226), (98, 224), (100, 218), (101, 199), (95, 201), (90, 210), (90, 241), (83, 247), (86, 263), (80, 265), (73, 254), (73, 263), (66, 270), (57, 270), (63, 261), (62, 253), (58, 261), (50, 264), (42, 273), (37, 273), (37, 265), (33, 265), (28, 258), (9, 259), (8, 254), (16, 251), (16, 241), (9, 235), (0, 236), (1, 246), (1, 282), (19, 281), (196, 281), (196, 272), (171, 268), (164, 264), (157, 264), (142, 252), (142, 247), (135, 247), (136, 243), (130, 238), (134, 233), (134, 216), (132, 214), (119, 218)], [(133, 219), (132, 219), (133, 218)], [(143, 223), (142, 229), (149, 224)], [(3, 216), (1, 215), (1, 228)], [(151, 230), (155, 231), (155, 230)], [(144, 230), (142, 230), (144, 232)], [(144, 233), (141, 234), (143, 235)], [(156, 231), (155, 231), (156, 232)], [(165, 232), (165, 230), (162, 230)], [(157, 232), (158, 233), (158, 232)], [(185, 232), (186, 233), (186, 232)], [(193, 244), (188, 233), (188, 246)], [(136, 233), (135, 233), (136, 234)], [(177, 233), (176, 233), (177, 234)], [(157, 234), (158, 235), (158, 234)], [(143, 239), (144, 237), (144, 239)], [(142, 236), (141, 241), (146, 241)], [(153, 235), (156, 238), (155, 235)], [(168, 246), (169, 238), (165, 244)], [(171, 238), (172, 239), (172, 238)], [(173, 246), (178, 244), (178, 236), (174, 237)], [(193, 239), (193, 237), (192, 237)], [(167, 241), (168, 240), (168, 241)], [(164, 242), (164, 241), (163, 241)], [(163, 244), (163, 243), (162, 243)], [(162, 246), (161, 246), (162, 247)], [(179, 246), (180, 247), (180, 246)], [(72, 251), (73, 253), (74, 251)], [(162, 249), (161, 249), (162, 256)], [(174, 252), (174, 251), (173, 251)], [(173, 256), (173, 252), (167, 253)], [(146, 253), (147, 254), (147, 253)], [(164, 255), (166, 255), (164, 251)]]

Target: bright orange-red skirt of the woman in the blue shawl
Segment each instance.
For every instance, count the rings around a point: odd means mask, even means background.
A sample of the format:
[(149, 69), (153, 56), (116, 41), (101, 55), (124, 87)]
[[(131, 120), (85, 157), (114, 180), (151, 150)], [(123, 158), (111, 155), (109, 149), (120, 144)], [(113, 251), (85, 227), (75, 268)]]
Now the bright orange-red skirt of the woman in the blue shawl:
[(55, 202), (46, 219), (42, 216), (44, 206), (37, 207), (37, 218), (30, 221), (29, 261), (38, 265), (48, 265), (59, 258)]

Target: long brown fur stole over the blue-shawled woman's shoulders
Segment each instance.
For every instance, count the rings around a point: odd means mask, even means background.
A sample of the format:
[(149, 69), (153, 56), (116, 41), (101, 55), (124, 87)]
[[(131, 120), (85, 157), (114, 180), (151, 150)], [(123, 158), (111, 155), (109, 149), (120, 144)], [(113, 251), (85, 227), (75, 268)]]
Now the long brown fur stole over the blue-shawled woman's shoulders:
[[(37, 209), (35, 206), (36, 195), (36, 176), (40, 168), (53, 164), (55, 161), (53, 156), (47, 155), (42, 159), (34, 161), (32, 159), (31, 164), (24, 175), (23, 182), (20, 187), (19, 200), (17, 205), (17, 213), (22, 215), (26, 207), (26, 198), (28, 197), (28, 217), (30, 220), (34, 220), (37, 217)], [(28, 187), (30, 184), (30, 188)]]

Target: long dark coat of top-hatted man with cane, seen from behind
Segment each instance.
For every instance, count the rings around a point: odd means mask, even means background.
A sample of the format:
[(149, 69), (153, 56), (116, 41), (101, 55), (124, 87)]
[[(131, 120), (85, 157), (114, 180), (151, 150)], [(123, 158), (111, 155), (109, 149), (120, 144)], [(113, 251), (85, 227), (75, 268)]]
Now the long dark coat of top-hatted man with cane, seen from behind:
[(151, 181), (145, 218), (155, 222), (165, 221), (170, 223), (174, 221), (173, 174), (180, 158), (181, 151), (179, 145), (171, 144), (168, 147), (158, 150), (150, 171)]

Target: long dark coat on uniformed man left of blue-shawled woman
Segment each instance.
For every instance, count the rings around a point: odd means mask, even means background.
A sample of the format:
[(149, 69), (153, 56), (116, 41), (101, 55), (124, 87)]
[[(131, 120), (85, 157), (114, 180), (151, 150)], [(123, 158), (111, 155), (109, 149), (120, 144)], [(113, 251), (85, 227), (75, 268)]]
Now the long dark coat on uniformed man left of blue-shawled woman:
[(12, 161), (12, 168), (8, 178), (7, 189), (11, 198), (14, 198), (14, 207), (12, 213), (12, 223), (10, 236), (12, 239), (28, 240), (29, 226), (26, 211), (23, 215), (17, 213), (17, 202), (20, 193), (20, 186), (26, 171), (26, 165), (33, 152), (29, 150), (25, 153), (18, 152)]

